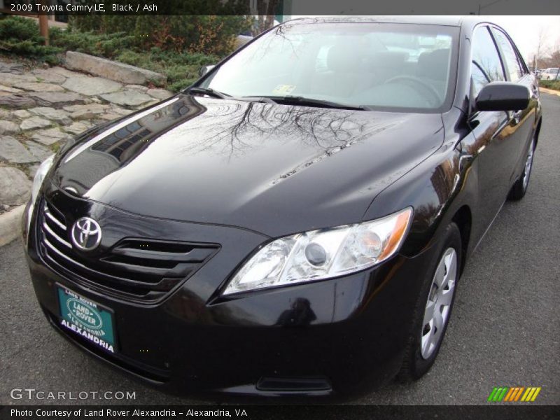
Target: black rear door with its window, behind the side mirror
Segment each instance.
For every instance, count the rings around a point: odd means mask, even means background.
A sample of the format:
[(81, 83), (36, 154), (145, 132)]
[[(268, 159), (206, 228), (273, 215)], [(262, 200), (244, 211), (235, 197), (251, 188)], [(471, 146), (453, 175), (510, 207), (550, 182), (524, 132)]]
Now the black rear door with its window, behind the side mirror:
[(511, 155), (510, 185), (512, 185), (521, 176), (528, 147), (531, 143), (538, 104), (538, 84), (536, 78), (528, 71), (523, 58), (519, 55), (519, 51), (507, 34), (496, 27), (491, 27), (491, 31), (498, 45), (498, 50), (500, 50), (500, 56), (505, 66), (506, 79), (520, 85), (526, 85), (532, 95), (526, 109), (510, 111), (508, 113), (510, 116), (509, 127), (512, 130), (512, 141), (507, 152), (508, 155)]

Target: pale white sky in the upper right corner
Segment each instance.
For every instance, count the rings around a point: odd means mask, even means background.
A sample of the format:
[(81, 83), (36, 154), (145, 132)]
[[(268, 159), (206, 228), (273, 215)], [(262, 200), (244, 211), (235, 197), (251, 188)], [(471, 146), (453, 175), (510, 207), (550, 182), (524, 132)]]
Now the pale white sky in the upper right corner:
[[(292, 18), (303, 18), (304, 16), (292, 16)], [(489, 22), (493, 22), (512, 37), (526, 62), (533, 59), (538, 45), (539, 32), (542, 29), (545, 34), (544, 49), (560, 48), (560, 16), (487, 16)]]

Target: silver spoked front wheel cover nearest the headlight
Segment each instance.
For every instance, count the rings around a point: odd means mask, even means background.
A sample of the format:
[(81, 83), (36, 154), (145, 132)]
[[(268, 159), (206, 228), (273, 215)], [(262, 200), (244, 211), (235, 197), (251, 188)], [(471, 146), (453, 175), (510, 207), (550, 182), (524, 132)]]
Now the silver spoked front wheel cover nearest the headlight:
[(424, 359), (432, 355), (442, 339), (455, 293), (456, 276), (457, 253), (454, 248), (447, 248), (437, 264), (424, 309), (421, 332), (421, 356)]

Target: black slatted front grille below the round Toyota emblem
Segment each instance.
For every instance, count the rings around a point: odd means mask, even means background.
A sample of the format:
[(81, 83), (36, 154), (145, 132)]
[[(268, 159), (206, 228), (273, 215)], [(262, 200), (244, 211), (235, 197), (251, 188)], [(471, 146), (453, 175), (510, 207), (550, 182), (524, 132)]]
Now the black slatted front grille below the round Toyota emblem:
[(139, 302), (162, 300), (218, 251), (216, 244), (125, 238), (94, 256), (77, 252), (62, 212), (43, 201), (38, 218), (41, 257), (55, 272)]

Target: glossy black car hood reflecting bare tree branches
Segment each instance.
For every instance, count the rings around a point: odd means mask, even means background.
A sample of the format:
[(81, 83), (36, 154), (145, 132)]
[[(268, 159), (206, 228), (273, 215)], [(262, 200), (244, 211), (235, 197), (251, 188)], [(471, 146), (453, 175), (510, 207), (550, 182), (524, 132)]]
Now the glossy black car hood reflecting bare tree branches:
[(442, 140), (440, 114), (179, 94), (77, 141), (51, 179), (134, 214), (276, 237), (361, 221)]

